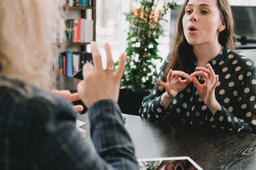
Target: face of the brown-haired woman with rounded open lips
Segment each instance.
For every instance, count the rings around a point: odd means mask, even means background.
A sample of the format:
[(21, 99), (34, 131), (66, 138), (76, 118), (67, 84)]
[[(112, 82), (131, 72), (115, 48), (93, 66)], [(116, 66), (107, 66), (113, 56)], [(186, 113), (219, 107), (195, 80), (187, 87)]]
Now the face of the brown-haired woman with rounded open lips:
[(223, 30), (217, 0), (189, 0), (183, 16), (183, 31), (190, 45), (218, 41)]

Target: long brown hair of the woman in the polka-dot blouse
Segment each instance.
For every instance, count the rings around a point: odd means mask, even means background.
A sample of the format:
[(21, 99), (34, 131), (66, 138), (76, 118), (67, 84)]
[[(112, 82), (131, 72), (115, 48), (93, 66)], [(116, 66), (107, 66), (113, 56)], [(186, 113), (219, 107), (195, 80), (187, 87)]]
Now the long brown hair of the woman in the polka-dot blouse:
[[(192, 68), (192, 65), (194, 65), (192, 59), (193, 49), (192, 45), (190, 45), (185, 38), (182, 23), (188, 2), (189, 0), (185, 0), (176, 19), (176, 37), (172, 42), (172, 51), (168, 56), (169, 62), (164, 72), (165, 79), (170, 69), (183, 71), (188, 74), (191, 74), (193, 71), (190, 69)], [(227, 46), (231, 51), (235, 51), (234, 21), (230, 4), (228, 3), (228, 0), (217, 0), (217, 5), (220, 11), (221, 20), (226, 24), (226, 28), (220, 32), (218, 40), (222, 46)]]

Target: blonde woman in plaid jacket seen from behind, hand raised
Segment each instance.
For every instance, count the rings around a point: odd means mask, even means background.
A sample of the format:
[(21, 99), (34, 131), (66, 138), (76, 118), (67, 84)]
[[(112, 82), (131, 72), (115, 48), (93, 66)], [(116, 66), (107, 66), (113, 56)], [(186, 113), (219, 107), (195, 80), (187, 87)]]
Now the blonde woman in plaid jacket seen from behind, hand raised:
[(109, 69), (103, 70), (92, 43), (95, 65), (83, 67), (85, 81), (78, 91), (89, 108), (96, 152), (76, 131), (71, 103), (50, 92), (55, 74), (48, 63), (57, 63), (58, 56), (52, 45), (52, 26), (61, 17), (57, 4), (0, 0), (0, 169), (139, 169), (116, 103), (125, 54), (116, 72), (109, 71), (113, 60), (106, 44)]

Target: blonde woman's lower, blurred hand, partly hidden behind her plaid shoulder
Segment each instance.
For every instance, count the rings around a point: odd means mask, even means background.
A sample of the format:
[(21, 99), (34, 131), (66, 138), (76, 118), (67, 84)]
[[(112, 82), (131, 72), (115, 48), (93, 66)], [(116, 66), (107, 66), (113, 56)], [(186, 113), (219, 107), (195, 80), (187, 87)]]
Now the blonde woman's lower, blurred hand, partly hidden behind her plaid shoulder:
[[(80, 96), (78, 93), (71, 94), (71, 92), (68, 90), (62, 90), (62, 91), (52, 90), (52, 93), (57, 96), (64, 97), (65, 99), (69, 100), (70, 102), (75, 102), (75, 101), (80, 100)], [(82, 105), (75, 105), (75, 106), (73, 106), (73, 108), (76, 112), (81, 112), (84, 110), (84, 107)]]

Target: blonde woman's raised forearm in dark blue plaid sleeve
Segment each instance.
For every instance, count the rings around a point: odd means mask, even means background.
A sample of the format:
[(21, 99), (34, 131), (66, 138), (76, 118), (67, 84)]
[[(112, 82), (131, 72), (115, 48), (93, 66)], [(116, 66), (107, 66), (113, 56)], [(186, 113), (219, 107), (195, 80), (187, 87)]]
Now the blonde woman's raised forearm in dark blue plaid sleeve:
[(134, 144), (125, 130), (118, 104), (111, 100), (97, 102), (89, 108), (88, 116), (91, 137), (99, 155), (113, 166), (137, 169)]

